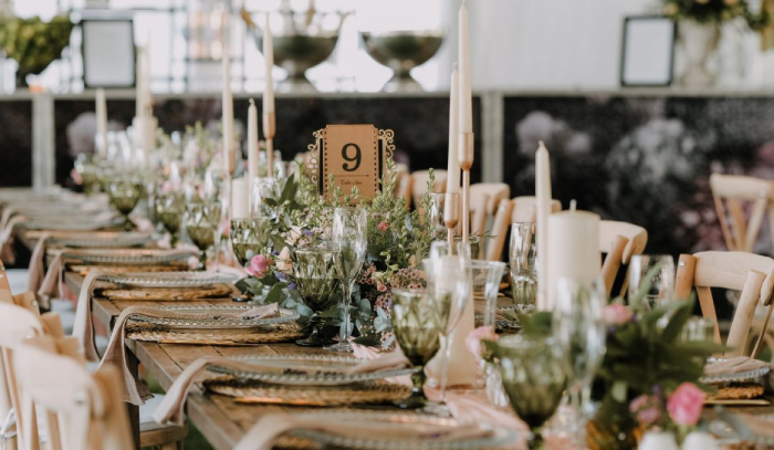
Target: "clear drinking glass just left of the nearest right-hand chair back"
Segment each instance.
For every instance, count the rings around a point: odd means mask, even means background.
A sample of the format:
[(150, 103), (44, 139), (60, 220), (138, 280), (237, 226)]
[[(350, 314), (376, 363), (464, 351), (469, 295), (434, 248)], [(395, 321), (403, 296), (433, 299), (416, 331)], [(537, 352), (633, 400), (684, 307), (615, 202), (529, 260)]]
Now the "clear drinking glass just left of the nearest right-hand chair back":
[(634, 302), (638, 294), (644, 294), (642, 301), (652, 308), (671, 302), (673, 291), (674, 260), (671, 255), (638, 254), (631, 257), (629, 263), (629, 303)]

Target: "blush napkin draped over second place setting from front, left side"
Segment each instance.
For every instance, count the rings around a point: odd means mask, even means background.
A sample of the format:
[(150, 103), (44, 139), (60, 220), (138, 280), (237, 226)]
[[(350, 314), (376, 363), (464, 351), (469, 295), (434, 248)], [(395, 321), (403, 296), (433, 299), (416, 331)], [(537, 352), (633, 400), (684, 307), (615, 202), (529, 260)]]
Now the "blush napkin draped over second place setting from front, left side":
[[(263, 307), (270, 307), (263, 306)], [(274, 305), (275, 306), (275, 305)], [(276, 307), (276, 306), (275, 306)], [(182, 425), (184, 421), (184, 406), (188, 390), (190, 389), (194, 378), (203, 370), (207, 366), (218, 365), (223, 367), (231, 367), (236, 369), (245, 370), (284, 370), (284, 367), (278, 365), (276, 362), (240, 362), (236, 359), (229, 359), (218, 356), (206, 356), (199, 358), (191, 363), (182, 374), (175, 380), (175, 383), (167, 390), (167, 395), (164, 397), (164, 401), (158, 406), (156, 412), (154, 412), (154, 419), (159, 423), (175, 423)], [(342, 371), (349, 374), (360, 374), (367, 371), (381, 370), (393, 367), (406, 367), (408, 365), (408, 359), (402, 354), (390, 353), (386, 354), (379, 358), (365, 360), (353, 367), (344, 368)], [(332, 369), (326, 369), (332, 370)]]

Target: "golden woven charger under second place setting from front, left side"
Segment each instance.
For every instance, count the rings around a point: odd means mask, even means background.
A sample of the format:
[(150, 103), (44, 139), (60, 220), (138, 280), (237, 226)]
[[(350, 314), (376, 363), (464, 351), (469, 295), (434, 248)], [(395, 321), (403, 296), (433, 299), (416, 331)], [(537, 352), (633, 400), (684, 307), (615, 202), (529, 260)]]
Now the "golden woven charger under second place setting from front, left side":
[(346, 406), (400, 401), (411, 395), (411, 387), (383, 379), (346, 386), (275, 385), (242, 379), (231, 375), (205, 381), (211, 393), (236, 397), (244, 404), (295, 406)]

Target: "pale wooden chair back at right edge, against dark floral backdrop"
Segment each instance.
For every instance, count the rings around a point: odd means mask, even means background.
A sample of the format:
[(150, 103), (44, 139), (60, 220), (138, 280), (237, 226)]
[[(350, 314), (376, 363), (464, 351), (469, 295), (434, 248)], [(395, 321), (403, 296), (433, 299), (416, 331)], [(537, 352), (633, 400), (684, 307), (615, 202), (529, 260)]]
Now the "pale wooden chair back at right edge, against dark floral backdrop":
[[(767, 213), (774, 237), (774, 182), (754, 177), (712, 174), (710, 188), (729, 250), (752, 252)], [(750, 207), (750, 217), (745, 206)]]

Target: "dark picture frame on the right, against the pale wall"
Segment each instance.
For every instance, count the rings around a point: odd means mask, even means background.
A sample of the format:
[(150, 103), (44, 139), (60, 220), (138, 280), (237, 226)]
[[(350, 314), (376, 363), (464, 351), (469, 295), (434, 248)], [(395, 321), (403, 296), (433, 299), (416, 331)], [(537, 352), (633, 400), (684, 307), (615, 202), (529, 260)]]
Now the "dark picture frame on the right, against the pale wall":
[[(650, 34), (642, 36), (634, 36), (635, 27), (641, 24), (660, 25), (661, 30), (639, 30), (638, 33)], [(655, 36), (653, 32), (661, 32), (663, 35)], [(639, 40), (648, 38), (648, 42), (656, 45), (663, 45), (663, 48), (656, 48), (653, 57), (660, 64), (657, 72), (663, 72), (662, 74), (645, 74), (639, 75), (632, 74), (631, 71), (637, 71), (632, 69), (631, 64), (635, 64), (634, 57), (640, 57), (641, 54), (631, 54), (630, 51), (632, 46), (639, 44)], [(635, 41), (637, 39), (637, 41)], [(674, 70), (674, 41), (677, 39), (677, 22), (666, 18), (663, 15), (629, 15), (624, 19), (624, 30), (621, 36), (621, 51), (620, 51), (620, 66), (619, 66), (619, 81), (620, 85), (624, 87), (663, 87), (672, 84), (672, 72)], [(638, 77), (639, 76), (639, 77)]]

